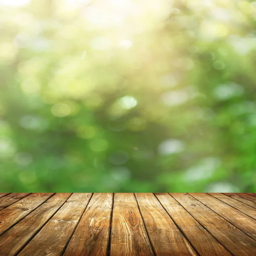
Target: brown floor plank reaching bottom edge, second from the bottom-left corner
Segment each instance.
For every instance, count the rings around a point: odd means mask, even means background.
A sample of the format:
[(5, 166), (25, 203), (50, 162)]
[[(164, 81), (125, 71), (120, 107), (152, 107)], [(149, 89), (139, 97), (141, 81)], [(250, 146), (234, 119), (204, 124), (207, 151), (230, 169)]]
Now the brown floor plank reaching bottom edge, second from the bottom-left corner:
[(90, 197), (91, 193), (72, 194), (18, 255), (60, 256), (87, 207)]

